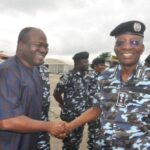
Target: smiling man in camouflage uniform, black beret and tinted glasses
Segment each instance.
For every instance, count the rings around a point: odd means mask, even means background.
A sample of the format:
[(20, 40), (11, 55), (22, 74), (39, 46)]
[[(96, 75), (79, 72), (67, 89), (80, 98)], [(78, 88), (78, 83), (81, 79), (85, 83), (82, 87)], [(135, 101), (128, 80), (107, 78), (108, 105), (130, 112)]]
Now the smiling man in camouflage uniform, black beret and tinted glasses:
[(111, 32), (120, 65), (99, 79), (102, 134), (97, 150), (150, 150), (150, 68), (139, 62), (144, 31), (142, 22), (129, 21)]

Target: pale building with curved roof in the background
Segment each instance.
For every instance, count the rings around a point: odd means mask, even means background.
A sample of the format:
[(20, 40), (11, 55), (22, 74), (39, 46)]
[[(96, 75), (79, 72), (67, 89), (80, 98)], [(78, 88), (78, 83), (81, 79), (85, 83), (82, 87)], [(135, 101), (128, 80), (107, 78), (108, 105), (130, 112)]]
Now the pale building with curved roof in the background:
[(49, 72), (52, 74), (66, 73), (73, 68), (72, 65), (69, 65), (62, 60), (54, 58), (46, 58), (44, 64), (47, 66)]

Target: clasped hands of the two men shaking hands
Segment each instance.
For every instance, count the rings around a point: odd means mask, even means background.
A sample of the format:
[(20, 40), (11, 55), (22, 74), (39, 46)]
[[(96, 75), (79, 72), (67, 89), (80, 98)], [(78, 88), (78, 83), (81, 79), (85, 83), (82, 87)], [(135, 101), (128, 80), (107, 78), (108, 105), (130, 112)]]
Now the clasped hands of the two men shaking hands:
[(64, 139), (74, 128), (70, 123), (64, 121), (50, 121), (49, 133), (59, 139)]

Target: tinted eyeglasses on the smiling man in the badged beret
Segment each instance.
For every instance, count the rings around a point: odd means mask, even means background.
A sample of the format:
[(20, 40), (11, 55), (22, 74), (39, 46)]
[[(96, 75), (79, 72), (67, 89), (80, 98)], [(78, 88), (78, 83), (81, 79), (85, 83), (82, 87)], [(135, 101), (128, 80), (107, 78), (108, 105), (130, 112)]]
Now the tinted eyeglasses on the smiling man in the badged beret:
[(126, 44), (130, 45), (132, 48), (137, 48), (143, 43), (142, 40), (131, 40), (131, 41), (122, 41), (122, 40), (117, 40), (116, 41), (116, 47), (123, 47)]

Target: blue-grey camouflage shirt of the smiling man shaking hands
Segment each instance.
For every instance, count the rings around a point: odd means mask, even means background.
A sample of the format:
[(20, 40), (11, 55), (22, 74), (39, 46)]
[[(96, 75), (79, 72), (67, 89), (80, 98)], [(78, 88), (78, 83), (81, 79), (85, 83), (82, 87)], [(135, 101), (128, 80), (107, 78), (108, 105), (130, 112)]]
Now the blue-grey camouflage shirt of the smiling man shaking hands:
[[(150, 68), (138, 64), (127, 82), (121, 80), (121, 66), (108, 69), (99, 78), (101, 145), (150, 149)], [(121, 143), (121, 142), (120, 142)]]

